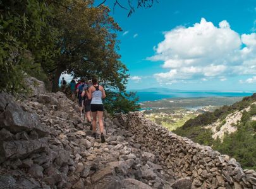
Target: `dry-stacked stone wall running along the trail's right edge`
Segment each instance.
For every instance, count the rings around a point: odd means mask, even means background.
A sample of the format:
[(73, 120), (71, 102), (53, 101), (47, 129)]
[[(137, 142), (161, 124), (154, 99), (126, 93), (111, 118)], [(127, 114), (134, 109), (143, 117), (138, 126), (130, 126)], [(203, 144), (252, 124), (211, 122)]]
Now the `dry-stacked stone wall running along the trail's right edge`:
[(191, 177), (192, 188), (256, 188), (256, 173), (242, 169), (235, 159), (169, 132), (142, 113), (118, 115), (121, 125), (132, 134), (143, 150), (155, 154), (174, 178)]

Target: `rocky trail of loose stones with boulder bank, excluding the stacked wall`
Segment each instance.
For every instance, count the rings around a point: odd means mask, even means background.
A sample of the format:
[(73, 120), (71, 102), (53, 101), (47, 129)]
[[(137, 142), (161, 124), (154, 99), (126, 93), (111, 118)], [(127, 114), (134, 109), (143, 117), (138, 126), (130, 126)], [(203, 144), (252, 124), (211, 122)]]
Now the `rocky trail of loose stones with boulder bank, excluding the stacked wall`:
[(171, 188), (174, 182), (117, 118), (106, 118), (101, 143), (61, 92), (20, 101), (1, 94), (0, 101), (0, 188)]

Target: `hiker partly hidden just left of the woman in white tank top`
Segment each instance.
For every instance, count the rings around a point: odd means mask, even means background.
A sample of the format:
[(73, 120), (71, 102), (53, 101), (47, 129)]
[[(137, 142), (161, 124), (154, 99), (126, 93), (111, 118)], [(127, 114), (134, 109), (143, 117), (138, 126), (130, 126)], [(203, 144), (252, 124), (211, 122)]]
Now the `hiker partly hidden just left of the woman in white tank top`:
[(88, 89), (90, 88), (90, 86), (91, 85), (90, 85), (90, 80), (89, 80), (83, 87), (83, 93), (81, 96), (83, 97), (83, 107), (84, 107), (87, 123), (90, 124), (90, 130), (92, 130), (92, 117), (91, 117), (92, 112), (90, 112), (90, 109), (91, 109), (90, 101), (91, 100), (88, 99)]

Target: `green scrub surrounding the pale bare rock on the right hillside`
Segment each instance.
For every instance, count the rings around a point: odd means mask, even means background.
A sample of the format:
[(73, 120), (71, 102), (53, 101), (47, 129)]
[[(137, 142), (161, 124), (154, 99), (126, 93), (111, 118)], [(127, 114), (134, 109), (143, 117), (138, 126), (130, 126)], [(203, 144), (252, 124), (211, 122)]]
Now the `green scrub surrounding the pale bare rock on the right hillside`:
[[(225, 135), (223, 142), (220, 139), (212, 139), (212, 131), (203, 126), (215, 122), (222, 118), (222, 123), (226, 123), (225, 118), (229, 113), (236, 110), (243, 110), (256, 101), (256, 93), (243, 98), (231, 106), (223, 106), (212, 113), (204, 113), (198, 117), (188, 120), (182, 127), (173, 132), (192, 139), (194, 142), (212, 146), (214, 150), (222, 154), (235, 157), (243, 168), (256, 169), (256, 121), (252, 117), (256, 113), (256, 106), (252, 105), (250, 111), (243, 112), (241, 121), (236, 124), (238, 130), (232, 134)], [(220, 128), (219, 128), (220, 129)]]

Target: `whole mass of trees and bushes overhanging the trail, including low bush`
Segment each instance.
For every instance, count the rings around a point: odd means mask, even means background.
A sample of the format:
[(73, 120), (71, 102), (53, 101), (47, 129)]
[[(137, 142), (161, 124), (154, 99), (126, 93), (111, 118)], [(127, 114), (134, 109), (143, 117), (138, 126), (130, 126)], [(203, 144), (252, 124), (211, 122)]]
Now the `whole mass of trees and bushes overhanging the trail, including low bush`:
[(109, 11), (93, 0), (0, 1), (0, 92), (27, 91), (26, 74), (58, 91), (66, 72), (98, 77), (110, 97), (108, 110), (118, 112), (118, 103), (125, 112), (137, 110), (135, 94), (125, 92), (128, 69), (116, 52), (121, 28)]

